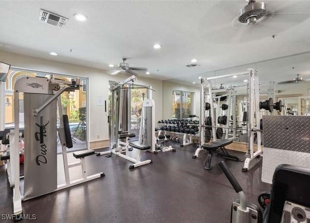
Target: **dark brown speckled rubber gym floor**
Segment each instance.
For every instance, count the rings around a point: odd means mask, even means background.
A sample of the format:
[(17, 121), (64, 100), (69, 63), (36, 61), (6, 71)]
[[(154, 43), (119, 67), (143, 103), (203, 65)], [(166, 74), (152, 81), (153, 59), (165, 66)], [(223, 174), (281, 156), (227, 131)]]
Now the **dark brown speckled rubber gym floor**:
[[(205, 151), (192, 159), (193, 146), (174, 147), (176, 152), (143, 153), (142, 160), (153, 162), (133, 170), (128, 169), (129, 161), (115, 155), (87, 157), (89, 175), (104, 172), (105, 177), (25, 201), (24, 214), (35, 214), (36, 222), (44, 223), (229, 223), (237, 194), (217, 165), (222, 159), (214, 157), (213, 169), (207, 171), (203, 169)], [(244, 158), (244, 153), (230, 153)], [(59, 155), (58, 165), (61, 159)], [(248, 202), (257, 204), (258, 194), (270, 186), (261, 181), (262, 158), (255, 162), (243, 173), (243, 162), (226, 160)], [(79, 171), (73, 172), (73, 179), (80, 177)], [(64, 181), (62, 171), (59, 180)], [(4, 166), (0, 167), (0, 190), (1, 214), (11, 214), (13, 190)]]

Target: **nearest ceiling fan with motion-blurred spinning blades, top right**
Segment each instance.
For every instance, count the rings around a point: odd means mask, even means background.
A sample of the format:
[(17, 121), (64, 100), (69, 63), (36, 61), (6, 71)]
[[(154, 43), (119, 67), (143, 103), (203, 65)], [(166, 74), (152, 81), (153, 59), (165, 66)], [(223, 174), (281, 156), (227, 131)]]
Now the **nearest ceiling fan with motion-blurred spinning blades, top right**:
[[(240, 7), (237, 1), (218, 1), (200, 23), (202, 37), (215, 43), (246, 43), (274, 38), (310, 18), (310, 1), (246, 2)], [(220, 11), (223, 7), (225, 14)], [(210, 17), (218, 18), (217, 26)]]

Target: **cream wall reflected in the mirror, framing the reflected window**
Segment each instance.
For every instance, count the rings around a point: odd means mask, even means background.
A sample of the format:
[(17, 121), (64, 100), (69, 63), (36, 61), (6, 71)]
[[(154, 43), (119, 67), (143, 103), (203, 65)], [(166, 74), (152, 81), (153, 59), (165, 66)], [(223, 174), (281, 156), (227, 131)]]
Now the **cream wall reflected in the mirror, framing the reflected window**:
[(190, 86), (190, 85), (183, 85), (171, 81), (164, 81), (163, 82), (163, 119), (171, 119), (172, 118), (172, 91), (179, 90), (179, 91), (187, 91), (193, 92), (193, 114), (199, 116), (200, 113), (200, 89), (198, 87)]

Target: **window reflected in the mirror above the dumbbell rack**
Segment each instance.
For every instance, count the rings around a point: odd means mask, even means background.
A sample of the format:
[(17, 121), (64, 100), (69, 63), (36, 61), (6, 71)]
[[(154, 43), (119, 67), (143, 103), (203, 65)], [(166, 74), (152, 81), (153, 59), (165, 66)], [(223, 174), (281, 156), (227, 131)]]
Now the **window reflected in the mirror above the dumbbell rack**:
[(184, 119), (193, 113), (193, 93), (172, 91), (172, 118)]

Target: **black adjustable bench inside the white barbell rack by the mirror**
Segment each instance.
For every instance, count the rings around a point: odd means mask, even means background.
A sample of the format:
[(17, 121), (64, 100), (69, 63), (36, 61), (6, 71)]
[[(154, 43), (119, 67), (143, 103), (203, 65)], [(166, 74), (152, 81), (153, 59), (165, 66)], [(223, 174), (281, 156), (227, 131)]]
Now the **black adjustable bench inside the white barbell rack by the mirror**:
[(225, 146), (229, 145), (233, 143), (233, 140), (229, 140), (229, 139), (222, 139), (216, 142), (213, 142), (211, 144), (203, 144), (202, 148), (204, 148), (205, 150), (207, 150), (208, 155), (207, 155), (207, 159), (204, 163), (204, 169), (206, 170), (211, 170), (211, 161), (212, 161), (212, 155), (213, 153), (215, 153), (217, 156), (221, 156), (227, 159), (232, 159), (235, 161), (243, 161), (242, 159), (239, 159), (236, 156), (230, 155), (228, 153), (228, 151), (226, 150)]

